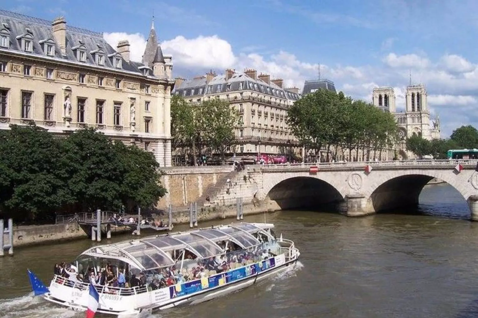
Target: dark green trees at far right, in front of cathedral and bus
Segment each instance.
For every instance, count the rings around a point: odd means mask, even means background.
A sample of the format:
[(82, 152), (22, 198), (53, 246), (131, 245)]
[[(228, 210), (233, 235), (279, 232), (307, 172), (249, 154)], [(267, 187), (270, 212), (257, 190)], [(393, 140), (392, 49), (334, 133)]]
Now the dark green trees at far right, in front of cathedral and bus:
[(450, 149), (478, 148), (478, 130), (471, 125), (462, 126), (456, 128), (449, 139), (427, 140), (413, 135), (407, 138), (406, 146), (418, 158), (433, 156), (435, 159), (447, 159), (446, 152)]

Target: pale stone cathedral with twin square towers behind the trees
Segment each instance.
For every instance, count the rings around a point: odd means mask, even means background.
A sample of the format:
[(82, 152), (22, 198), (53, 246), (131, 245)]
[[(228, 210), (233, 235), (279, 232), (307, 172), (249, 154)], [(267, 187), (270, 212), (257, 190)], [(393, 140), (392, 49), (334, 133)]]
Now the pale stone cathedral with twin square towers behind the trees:
[(405, 111), (397, 112), (395, 105), (395, 92), (392, 87), (374, 88), (372, 103), (383, 111), (394, 115), (400, 127), (402, 142), (399, 144), (400, 158), (404, 159), (411, 154), (406, 154), (404, 140), (415, 135), (431, 140), (440, 138), (440, 118), (430, 119), (427, 93), (424, 85), (409, 85), (405, 93)]

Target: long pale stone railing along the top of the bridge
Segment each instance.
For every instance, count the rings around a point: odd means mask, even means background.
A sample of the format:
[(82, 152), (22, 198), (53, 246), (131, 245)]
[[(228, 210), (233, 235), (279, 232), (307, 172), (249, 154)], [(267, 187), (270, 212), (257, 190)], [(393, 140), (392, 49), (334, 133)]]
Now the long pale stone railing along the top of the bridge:
[[(261, 170), (300, 170), (304, 168), (317, 167), (321, 169), (361, 168), (369, 165), (371, 167), (455, 167), (460, 164), (464, 167), (476, 167), (478, 159), (424, 159), (424, 160), (390, 160), (390, 161), (353, 161), (353, 162), (311, 162), (311, 163), (282, 163), (260, 165)], [(256, 168), (257, 166), (247, 166)]]

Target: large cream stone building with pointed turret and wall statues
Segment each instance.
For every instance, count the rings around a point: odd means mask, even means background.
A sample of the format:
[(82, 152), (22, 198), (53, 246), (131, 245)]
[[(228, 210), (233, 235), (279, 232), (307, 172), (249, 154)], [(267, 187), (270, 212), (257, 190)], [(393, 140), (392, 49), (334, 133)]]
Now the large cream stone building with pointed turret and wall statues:
[(0, 129), (35, 123), (57, 135), (96, 127), (171, 165), (172, 57), (154, 27), (142, 62), (102, 33), (0, 10)]

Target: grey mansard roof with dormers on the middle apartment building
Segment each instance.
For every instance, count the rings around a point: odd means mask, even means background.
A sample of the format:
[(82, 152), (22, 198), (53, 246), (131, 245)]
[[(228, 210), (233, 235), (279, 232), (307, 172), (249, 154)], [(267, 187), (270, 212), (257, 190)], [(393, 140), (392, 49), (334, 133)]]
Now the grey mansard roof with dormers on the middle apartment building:
[[(242, 89), (240, 89), (241, 83), (243, 83)], [(240, 72), (233, 74), (227, 81), (225, 74), (214, 76), (209, 83), (206, 83), (206, 76), (202, 76), (185, 80), (180, 85), (174, 87), (174, 93), (177, 92), (177, 94), (185, 97), (215, 95), (219, 93), (245, 90), (251, 90), (264, 95), (286, 98), (294, 101), (300, 97), (298, 94), (288, 92), (272, 82), (267, 84), (259, 78), (254, 80), (247, 74)]]

